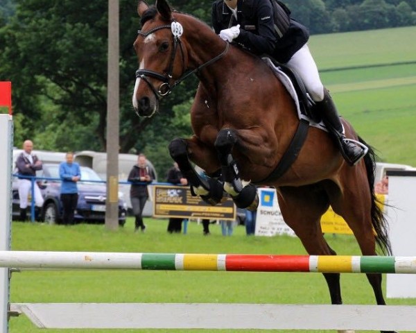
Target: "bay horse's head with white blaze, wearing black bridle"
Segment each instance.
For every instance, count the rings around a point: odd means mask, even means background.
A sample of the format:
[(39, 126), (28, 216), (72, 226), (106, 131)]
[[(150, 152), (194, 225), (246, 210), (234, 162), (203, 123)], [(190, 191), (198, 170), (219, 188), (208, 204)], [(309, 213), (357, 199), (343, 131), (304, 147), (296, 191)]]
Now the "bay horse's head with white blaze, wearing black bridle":
[(142, 30), (134, 44), (139, 69), (132, 102), (139, 116), (151, 117), (159, 99), (171, 92), (171, 84), (184, 72), (186, 59), (180, 40), (183, 29), (166, 0), (156, 0), (155, 6), (139, 0), (137, 12)]

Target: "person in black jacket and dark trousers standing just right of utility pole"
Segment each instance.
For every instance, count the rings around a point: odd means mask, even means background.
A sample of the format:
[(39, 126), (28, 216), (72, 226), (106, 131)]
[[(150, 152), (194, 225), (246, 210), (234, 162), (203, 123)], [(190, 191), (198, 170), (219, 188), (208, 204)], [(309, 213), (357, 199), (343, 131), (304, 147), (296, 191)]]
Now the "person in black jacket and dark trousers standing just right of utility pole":
[(133, 214), (135, 215), (135, 231), (141, 229), (144, 232), (146, 225), (143, 223), (143, 209), (148, 200), (148, 184), (155, 179), (153, 169), (148, 166), (146, 156), (139, 154), (137, 164), (128, 175), (128, 181), (132, 182), (130, 187), (130, 200), (132, 202)]

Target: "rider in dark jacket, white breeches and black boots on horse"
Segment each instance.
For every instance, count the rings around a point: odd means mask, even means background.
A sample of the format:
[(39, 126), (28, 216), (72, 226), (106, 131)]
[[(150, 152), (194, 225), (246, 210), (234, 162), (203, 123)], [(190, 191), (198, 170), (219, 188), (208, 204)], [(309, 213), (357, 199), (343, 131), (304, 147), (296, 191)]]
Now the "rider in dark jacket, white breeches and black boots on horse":
[(216, 0), (212, 6), (214, 30), (227, 42), (272, 56), (295, 71), (321, 112), (322, 120), (336, 139), (345, 160), (354, 165), (366, 150), (345, 137), (344, 128), (318, 68), (306, 44), (306, 27), (290, 18), (290, 11), (276, 0)]

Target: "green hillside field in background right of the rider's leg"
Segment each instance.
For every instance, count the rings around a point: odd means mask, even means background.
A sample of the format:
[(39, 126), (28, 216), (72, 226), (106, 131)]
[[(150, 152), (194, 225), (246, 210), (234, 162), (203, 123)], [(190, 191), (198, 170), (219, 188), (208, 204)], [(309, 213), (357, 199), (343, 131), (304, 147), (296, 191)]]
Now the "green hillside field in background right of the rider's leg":
[(316, 35), (310, 48), (338, 111), (380, 160), (416, 166), (416, 27)]

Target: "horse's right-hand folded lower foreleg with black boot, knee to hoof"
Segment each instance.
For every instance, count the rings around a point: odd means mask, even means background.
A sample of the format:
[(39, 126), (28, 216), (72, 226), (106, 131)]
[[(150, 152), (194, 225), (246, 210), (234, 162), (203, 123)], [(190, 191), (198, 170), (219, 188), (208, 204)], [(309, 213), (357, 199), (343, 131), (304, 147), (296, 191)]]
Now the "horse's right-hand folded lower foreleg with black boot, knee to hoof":
[(237, 207), (257, 210), (259, 204), (257, 189), (254, 185), (241, 180), (239, 168), (232, 157), (232, 148), (237, 143), (237, 139), (235, 131), (229, 128), (220, 130), (216, 137), (215, 148), (218, 151), (221, 173), (225, 181), (224, 190), (232, 196)]

